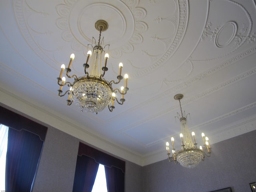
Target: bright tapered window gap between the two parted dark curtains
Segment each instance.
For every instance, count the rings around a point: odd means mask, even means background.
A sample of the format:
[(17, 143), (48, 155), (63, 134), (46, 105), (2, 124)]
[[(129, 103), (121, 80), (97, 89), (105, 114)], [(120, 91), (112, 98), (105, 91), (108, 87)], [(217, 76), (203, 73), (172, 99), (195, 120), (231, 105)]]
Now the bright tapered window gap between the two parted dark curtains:
[(104, 165), (99, 164), (92, 192), (108, 192)]

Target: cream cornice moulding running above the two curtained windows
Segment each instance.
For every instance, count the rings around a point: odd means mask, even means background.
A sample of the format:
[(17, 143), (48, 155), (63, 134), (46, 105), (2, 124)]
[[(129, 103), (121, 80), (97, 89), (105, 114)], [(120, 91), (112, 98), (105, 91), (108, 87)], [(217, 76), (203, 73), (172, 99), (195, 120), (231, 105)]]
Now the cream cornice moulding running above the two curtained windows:
[[(134, 162), (140, 166), (142, 166), (142, 157), (140, 154), (136, 152), (132, 152), (124, 147), (120, 147), (117, 144), (113, 144), (108, 140), (96, 136), (84, 129), (82, 126), (77, 126), (75, 124), (70, 123), (68, 119), (60, 118), (56, 115), (56, 113), (52, 113), (50, 111), (46, 111), (31, 102), (28, 102), (2, 88), (0, 88), (0, 103), (13, 108), (23, 114), (26, 114), (30, 118), (34, 118), (39, 122), (43, 122), (46, 126), (51, 126), (53, 128), (57, 128), (71, 136), (74, 136), (84, 142), (87, 142), (97, 148), (100, 148), (110, 154), (114, 154), (120, 158), (128, 160), (130, 162)], [(70, 129), (72, 128), (72, 129)]]

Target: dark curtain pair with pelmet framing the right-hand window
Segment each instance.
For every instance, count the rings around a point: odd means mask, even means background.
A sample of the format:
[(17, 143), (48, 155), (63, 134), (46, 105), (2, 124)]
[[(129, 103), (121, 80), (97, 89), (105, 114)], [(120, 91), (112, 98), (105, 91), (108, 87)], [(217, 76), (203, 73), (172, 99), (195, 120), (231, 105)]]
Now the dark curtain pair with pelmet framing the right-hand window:
[(98, 164), (105, 166), (108, 192), (124, 192), (125, 162), (83, 143), (79, 143), (73, 192), (92, 191)]

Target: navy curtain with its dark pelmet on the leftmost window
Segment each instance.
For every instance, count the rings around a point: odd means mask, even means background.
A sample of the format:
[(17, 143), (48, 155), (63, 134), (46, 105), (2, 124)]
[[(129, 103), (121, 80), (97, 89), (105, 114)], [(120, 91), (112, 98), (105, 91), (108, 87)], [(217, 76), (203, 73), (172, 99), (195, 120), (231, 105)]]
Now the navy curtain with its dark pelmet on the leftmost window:
[(47, 127), (0, 106), (0, 123), (9, 127), (6, 191), (30, 192)]

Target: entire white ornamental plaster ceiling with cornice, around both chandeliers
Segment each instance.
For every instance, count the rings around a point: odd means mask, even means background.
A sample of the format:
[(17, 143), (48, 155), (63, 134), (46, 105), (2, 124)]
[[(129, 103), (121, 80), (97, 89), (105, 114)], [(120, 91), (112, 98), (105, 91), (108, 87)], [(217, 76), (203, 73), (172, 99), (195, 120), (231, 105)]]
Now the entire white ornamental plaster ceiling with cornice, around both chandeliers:
[[(100, 19), (109, 24), (102, 32), (110, 44), (105, 77), (116, 79), (122, 62), (130, 90), (113, 112), (90, 114), (58, 97), (56, 78), (71, 53), (72, 72), (84, 75), (87, 44), (98, 39)], [(216, 143), (256, 129), (255, 23), (253, 0), (2, 0), (0, 101), (150, 164), (167, 158), (171, 136), (178, 149), (178, 93), (198, 143), (202, 131)]]

